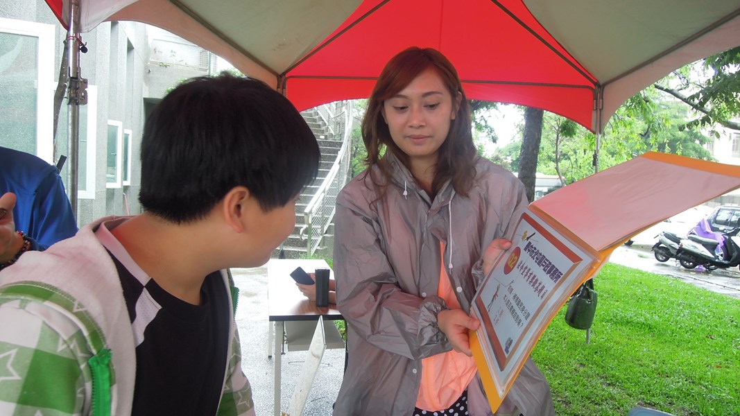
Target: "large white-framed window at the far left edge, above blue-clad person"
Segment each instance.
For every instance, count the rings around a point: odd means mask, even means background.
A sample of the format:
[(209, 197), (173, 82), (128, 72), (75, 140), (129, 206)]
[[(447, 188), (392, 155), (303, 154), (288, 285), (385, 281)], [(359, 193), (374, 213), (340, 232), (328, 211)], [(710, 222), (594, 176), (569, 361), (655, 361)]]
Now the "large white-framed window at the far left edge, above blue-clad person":
[(0, 19), (0, 145), (52, 163), (54, 26)]

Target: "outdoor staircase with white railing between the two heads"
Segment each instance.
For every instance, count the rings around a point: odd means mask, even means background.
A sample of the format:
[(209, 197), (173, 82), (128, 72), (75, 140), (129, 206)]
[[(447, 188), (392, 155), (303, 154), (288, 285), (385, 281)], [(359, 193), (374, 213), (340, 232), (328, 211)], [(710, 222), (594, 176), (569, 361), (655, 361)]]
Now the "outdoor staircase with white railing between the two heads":
[(295, 228), (273, 258), (331, 258), (334, 203), (349, 178), (351, 103), (337, 101), (301, 112), (316, 135), (321, 161), (316, 179), (295, 204)]

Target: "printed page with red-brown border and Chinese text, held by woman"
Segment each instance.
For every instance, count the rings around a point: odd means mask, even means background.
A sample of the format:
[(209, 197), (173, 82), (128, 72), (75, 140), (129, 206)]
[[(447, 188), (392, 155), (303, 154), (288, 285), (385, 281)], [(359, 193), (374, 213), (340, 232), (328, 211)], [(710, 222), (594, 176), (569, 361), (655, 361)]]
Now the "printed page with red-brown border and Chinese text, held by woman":
[(563, 299), (595, 261), (534, 212), (522, 215), (511, 248), (485, 278), (471, 306), (481, 323), (477, 338), (499, 397), (508, 392)]

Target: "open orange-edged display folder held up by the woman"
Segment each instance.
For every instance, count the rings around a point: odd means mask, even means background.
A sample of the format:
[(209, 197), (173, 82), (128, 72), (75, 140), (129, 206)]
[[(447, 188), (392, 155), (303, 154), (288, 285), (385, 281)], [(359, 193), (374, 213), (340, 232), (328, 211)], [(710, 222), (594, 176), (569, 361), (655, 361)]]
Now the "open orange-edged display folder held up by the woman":
[(471, 349), (491, 408), (552, 318), (616, 246), (739, 187), (740, 167), (647, 152), (534, 201), (471, 305), (481, 322)]

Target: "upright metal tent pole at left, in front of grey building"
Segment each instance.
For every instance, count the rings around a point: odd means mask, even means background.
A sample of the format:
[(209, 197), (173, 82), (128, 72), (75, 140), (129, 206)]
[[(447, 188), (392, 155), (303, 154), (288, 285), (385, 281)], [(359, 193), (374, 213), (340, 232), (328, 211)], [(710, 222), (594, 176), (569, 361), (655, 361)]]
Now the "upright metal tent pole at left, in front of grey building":
[[(69, 132), (67, 138), (67, 151), (70, 153), (69, 174), (67, 178), (67, 190), (70, 195), (72, 212), (77, 218), (77, 181), (78, 181), (78, 155), (80, 136), (80, 105), (87, 104), (87, 79), (80, 76), (80, 3), (79, 0), (70, 0), (70, 16), (67, 28), (67, 55), (69, 56)], [(94, 155), (93, 155), (94, 156)]]

